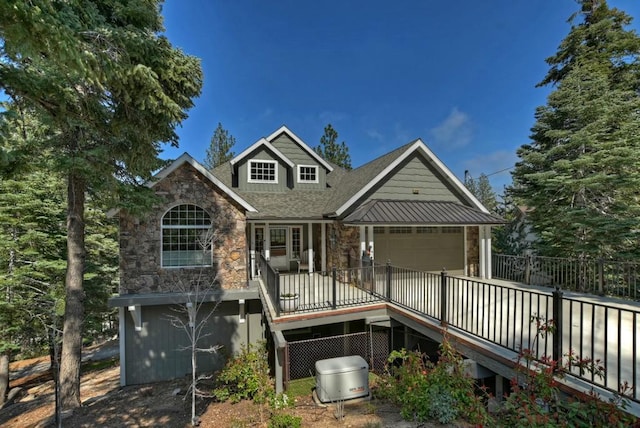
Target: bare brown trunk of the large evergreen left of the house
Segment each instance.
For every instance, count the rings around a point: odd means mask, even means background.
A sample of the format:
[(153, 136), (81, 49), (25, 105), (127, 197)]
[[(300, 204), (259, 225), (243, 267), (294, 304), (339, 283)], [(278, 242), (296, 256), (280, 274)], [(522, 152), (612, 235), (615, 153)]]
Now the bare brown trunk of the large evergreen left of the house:
[(73, 172), (67, 184), (67, 276), (60, 360), (63, 410), (80, 407), (80, 362), (84, 319), (84, 200), (86, 184)]

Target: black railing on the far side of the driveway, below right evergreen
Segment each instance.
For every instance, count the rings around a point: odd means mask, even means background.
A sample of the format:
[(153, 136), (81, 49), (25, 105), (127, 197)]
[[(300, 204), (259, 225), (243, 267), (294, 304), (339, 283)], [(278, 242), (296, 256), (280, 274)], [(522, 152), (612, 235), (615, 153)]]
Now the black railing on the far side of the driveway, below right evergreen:
[(640, 263), (493, 254), (494, 278), (640, 300)]

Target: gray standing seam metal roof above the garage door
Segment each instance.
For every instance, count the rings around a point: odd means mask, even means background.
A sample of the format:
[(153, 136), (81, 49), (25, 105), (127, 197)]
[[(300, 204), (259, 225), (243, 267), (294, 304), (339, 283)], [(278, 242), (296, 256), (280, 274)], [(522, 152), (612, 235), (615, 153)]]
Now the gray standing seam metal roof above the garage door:
[(449, 201), (371, 200), (344, 218), (350, 224), (479, 225), (504, 220)]

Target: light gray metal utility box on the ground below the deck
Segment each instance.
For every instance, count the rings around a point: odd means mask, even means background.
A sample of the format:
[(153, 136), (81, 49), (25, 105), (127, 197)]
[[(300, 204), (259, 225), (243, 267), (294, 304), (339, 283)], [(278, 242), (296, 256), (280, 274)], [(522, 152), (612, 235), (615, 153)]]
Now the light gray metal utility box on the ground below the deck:
[(316, 395), (327, 403), (369, 395), (369, 364), (359, 355), (316, 361)]

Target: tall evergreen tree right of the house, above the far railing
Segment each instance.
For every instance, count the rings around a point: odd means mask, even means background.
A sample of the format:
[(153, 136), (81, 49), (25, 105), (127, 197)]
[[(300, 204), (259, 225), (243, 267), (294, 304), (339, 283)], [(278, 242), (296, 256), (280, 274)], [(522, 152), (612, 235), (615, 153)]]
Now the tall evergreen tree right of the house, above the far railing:
[(532, 208), (541, 253), (637, 257), (640, 38), (606, 1), (579, 4), (547, 59), (540, 84), (555, 90), (536, 111), (532, 142), (518, 150), (512, 193)]

